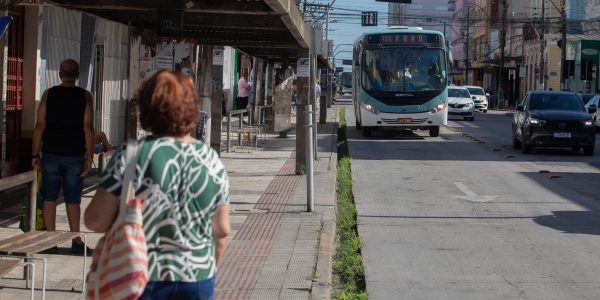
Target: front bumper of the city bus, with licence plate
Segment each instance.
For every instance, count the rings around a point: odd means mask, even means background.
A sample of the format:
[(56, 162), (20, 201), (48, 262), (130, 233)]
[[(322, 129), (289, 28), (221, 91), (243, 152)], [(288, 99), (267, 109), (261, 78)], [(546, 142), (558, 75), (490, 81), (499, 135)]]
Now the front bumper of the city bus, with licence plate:
[(403, 129), (427, 129), (431, 126), (448, 124), (448, 107), (435, 113), (384, 113), (375, 114), (360, 107), (361, 126), (366, 127), (402, 127)]

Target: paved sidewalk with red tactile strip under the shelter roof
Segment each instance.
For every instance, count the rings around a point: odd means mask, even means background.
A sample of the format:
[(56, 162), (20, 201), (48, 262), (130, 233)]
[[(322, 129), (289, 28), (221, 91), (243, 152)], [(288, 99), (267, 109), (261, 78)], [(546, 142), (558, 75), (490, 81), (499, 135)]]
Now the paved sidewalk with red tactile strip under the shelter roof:
[[(217, 276), (217, 299), (329, 299), (335, 239), (337, 109), (318, 126), (315, 211), (306, 212), (306, 176), (295, 175), (295, 132), (268, 135), (259, 147), (232, 147), (222, 160), (230, 177), (233, 234)], [(224, 134), (224, 133), (223, 133)], [(235, 139), (234, 139), (235, 140)], [(223, 137), (223, 141), (225, 138)], [(82, 199), (87, 207), (93, 189)], [(83, 226), (83, 225), (82, 225)], [(57, 229), (68, 230), (64, 205), (57, 207)], [(82, 228), (87, 231), (86, 228)], [(0, 239), (21, 233), (18, 223), (0, 227)], [(96, 245), (99, 234), (89, 233)], [(48, 259), (47, 299), (83, 299), (82, 257), (70, 244)], [(88, 266), (91, 259), (88, 259)], [(29, 297), (22, 269), (0, 279), (0, 299)], [(41, 299), (41, 265), (36, 298)]]

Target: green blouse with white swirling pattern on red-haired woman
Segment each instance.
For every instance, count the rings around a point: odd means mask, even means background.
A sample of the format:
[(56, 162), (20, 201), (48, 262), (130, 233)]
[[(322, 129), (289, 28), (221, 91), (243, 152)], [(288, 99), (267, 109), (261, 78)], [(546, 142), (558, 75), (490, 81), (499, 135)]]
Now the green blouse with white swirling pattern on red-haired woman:
[[(211, 218), (229, 204), (229, 178), (217, 153), (202, 142), (141, 140), (134, 187), (144, 199), (150, 281), (193, 282), (215, 275)], [(125, 147), (115, 151), (100, 187), (119, 197)]]

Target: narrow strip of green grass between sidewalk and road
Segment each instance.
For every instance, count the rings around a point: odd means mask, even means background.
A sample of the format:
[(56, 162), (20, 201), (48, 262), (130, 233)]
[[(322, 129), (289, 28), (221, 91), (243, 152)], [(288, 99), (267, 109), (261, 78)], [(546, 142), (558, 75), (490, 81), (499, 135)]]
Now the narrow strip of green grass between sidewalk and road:
[(332, 297), (344, 300), (368, 298), (361, 256), (362, 242), (357, 232), (350, 165), (346, 140), (346, 111), (341, 109), (337, 161), (336, 238), (338, 244), (333, 258), (335, 286)]

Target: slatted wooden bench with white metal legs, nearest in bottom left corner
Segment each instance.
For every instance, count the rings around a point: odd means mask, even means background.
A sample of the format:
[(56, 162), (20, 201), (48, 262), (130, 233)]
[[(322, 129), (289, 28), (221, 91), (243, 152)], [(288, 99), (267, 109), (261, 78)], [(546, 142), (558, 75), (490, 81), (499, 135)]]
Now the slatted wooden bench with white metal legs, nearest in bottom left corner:
[[(25, 267), (23, 277), (29, 286), (29, 280), (35, 272), (34, 260), (43, 261), (43, 282), (42, 282), (42, 298), (46, 294), (46, 259), (34, 257), (35, 254), (56, 247), (60, 244), (70, 242), (76, 237), (81, 237), (83, 242), (86, 242), (85, 235), (79, 232), (68, 231), (29, 231), (0, 241), (0, 256), (19, 258), (22, 260), (0, 260), (0, 274), (6, 274), (19, 264), (32, 266), (31, 272)], [(6, 261), (6, 262), (4, 262)], [(13, 265), (16, 261), (16, 265)], [(84, 247), (83, 255), (83, 284), (81, 291), (85, 292), (85, 271), (87, 268), (87, 248)], [(5, 273), (2, 273), (5, 272)], [(32, 293), (33, 286), (32, 282)], [(32, 294), (33, 295), (33, 294)]]

